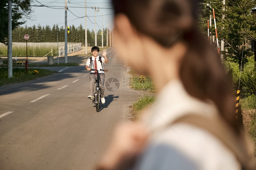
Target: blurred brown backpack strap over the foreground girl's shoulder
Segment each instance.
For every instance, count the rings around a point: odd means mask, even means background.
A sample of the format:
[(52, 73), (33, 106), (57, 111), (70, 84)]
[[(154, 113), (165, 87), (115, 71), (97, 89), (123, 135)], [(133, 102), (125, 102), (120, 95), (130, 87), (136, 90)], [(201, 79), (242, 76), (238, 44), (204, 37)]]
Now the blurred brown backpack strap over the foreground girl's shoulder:
[(207, 130), (234, 153), (237, 160), (241, 163), (242, 169), (256, 169), (252, 142), (246, 140), (244, 133), (235, 133), (221, 117), (215, 116), (208, 118), (201, 115), (190, 114), (178, 118), (172, 124), (174, 123), (188, 123)]

